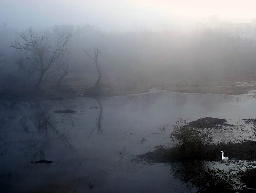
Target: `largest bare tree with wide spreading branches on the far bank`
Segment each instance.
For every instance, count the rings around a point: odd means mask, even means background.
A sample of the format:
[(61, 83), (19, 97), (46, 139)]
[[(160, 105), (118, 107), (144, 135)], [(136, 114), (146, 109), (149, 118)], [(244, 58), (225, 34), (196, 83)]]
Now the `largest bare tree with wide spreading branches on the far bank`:
[(36, 91), (39, 89), (44, 73), (66, 50), (65, 46), (72, 36), (72, 33), (68, 33), (67, 35), (60, 34), (55, 48), (52, 48), (44, 36), (39, 38), (36, 33), (33, 32), (32, 28), (30, 28), (28, 34), (20, 34), (21, 41), (15, 40), (12, 43), (12, 47), (17, 49), (18, 53), (26, 53), (26, 60), (38, 63), (40, 75), (35, 85)]

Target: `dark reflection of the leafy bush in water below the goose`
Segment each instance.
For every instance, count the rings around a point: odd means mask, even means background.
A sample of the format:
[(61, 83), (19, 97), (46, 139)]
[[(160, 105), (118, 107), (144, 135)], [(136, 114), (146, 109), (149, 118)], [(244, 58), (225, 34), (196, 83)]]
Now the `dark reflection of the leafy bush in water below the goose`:
[(202, 192), (237, 192), (241, 189), (240, 176), (234, 170), (209, 169), (198, 161), (176, 162), (172, 165), (172, 174), (188, 187)]

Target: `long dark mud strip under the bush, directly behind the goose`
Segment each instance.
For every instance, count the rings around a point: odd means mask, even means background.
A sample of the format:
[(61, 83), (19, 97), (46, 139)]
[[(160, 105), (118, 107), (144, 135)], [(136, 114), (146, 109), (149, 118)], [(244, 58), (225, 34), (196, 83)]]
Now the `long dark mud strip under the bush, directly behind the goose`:
[(220, 151), (229, 160), (256, 161), (256, 141), (244, 141), (242, 143), (218, 143), (207, 145), (199, 152), (186, 151), (182, 147), (158, 148), (145, 154), (138, 155), (138, 161), (154, 163), (168, 163), (177, 161), (222, 161)]

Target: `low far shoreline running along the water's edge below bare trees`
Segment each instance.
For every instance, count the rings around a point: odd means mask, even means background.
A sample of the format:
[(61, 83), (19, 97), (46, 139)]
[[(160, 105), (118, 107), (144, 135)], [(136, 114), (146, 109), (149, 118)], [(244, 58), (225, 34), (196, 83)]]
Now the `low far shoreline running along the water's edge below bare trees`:
[(202, 86), (202, 87), (166, 87), (166, 86), (155, 86), (155, 87), (140, 87), (125, 90), (125, 91), (112, 91), (108, 86), (102, 86), (100, 95), (95, 95), (90, 88), (88, 89), (77, 89), (72, 88), (72, 85), (63, 85), (60, 88), (56, 87), (43, 87), (40, 89), (37, 95), (31, 95), (31, 89), (20, 91), (13, 91), (13, 93), (2, 94), (1, 99), (6, 101), (20, 100), (20, 101), (41, 101), (41, 100), (58, 100), (65, 98), (76, 98), (76, 97), (116, 97), (116, 96), (127, 96), (144, 94), (151, 92), (151, 90), (156, 89), (156, 91), (169, 91), (176, 93), (187, 93), (187, 94), (225, 94), (225, 95), (248, 95), (256, 98), (256, 85), (254, 86), (234, 86), (232, 84), (223, 86)]

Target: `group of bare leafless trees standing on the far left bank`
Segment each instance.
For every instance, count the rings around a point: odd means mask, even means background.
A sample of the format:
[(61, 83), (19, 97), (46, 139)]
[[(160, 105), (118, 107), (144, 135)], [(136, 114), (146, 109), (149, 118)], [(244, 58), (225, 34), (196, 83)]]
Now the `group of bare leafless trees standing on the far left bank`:
[[(22, 86), (30, 85), (34, 87), (34, 92), (37, 93), (44, 77), (52, 73), (54, 76), (59, 77), (56, 86), (60, 87), (61, 81), (68, 75), (71, 56), (71, 45), (68, 43), (73, 36), (74, 33), (70, 30), (66, 33), (57, 32), (57, 34), (51, 37), (44, 33), (37, 35), (32, 27), (28, 32), (19, 33), (11, 42), (11, 47), (15, 49), (15, 63), (23, 76)], [(95, 63), (94, 65), (98, 72), (98, 80), (94, 88), (99, 89), (101, 71), (98, 56), (100, 51), (95, 47), (94, 57), (92, 57), (88, 51), (83, 50), (86, 55), (93, 60), (93, 63)], [(7, 62), (6, 55), (0, 53), (0, 64), (5, 62)], [(6, 85), (4, 84), (9, 83), (7, 87), (11, 87), (11, 82), (13, 81), (10, 80), (13, 78), (11, 74), (8, 74), (4, 80), (2, 79), (2, 93), (10, 91), (11, 88), (9, 88), (9, 90), (6, 89)]]

